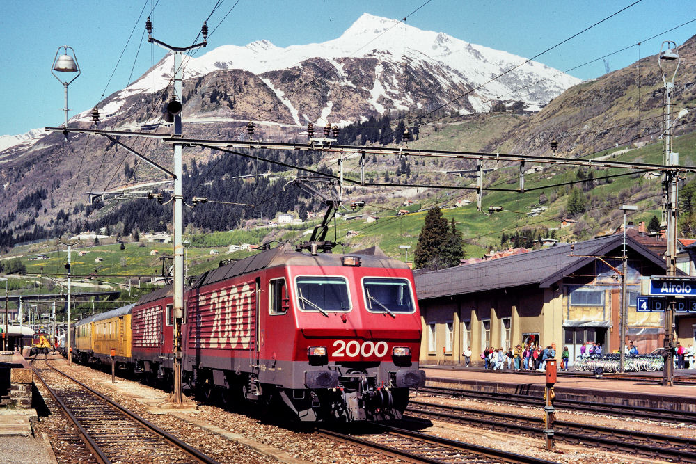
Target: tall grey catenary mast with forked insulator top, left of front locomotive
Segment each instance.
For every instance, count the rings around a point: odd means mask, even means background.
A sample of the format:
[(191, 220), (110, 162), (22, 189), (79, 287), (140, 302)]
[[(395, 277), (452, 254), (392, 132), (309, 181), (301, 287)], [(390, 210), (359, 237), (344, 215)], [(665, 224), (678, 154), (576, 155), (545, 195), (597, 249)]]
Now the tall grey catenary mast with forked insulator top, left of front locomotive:
[[(148, 17), (145, 22), (145, 29), (148, 31), (148, 42), (156, 43), (160, 47), (172, 51), (174, 54), (174, 95), (166, 106), (165, 120), (174, 123), (173, 138), (181, 138), (182, 136), (182, 121), (181, 111), (183, 109), (183, 94), (182, 94), (182, 54), (184, 51), (207, 46), (208, 27), (203, 22), (203, 28), (200, 30), (203, 35), (203, 42), (191, 45), (189, 47), (172, 47), (164, 42), (152, 38), (152, 21)], [(173, 327), (173, 385), (172, 392), (167, 401), (175, 404), (181, 404), (184, 400), (181, 387), (181, 362), (182, 362), (182, 345), (181, 345), (181, 324), (184, 317), (184, 246), (182, 244), (182, 143), (174, 143), (174, 327)]]

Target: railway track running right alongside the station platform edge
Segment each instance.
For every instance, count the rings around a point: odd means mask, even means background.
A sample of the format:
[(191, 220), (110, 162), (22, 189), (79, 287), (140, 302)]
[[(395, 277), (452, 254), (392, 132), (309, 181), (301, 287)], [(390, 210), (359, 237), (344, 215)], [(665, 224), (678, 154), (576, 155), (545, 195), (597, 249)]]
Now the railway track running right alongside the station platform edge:
[[(544, 397), (526, 394), (500, 392), (473, 392), (448, 387), (423, 387), (419, 393), (444, 395), (452, 398), (490, 399), (514, 405), (544, 406)], [(623, 404), (597, 403), (595, 401), (580, 401), (576, 399), (561, 399), (556, 397), (553, 406), (566, 410), (591, 411), (593, 414), (615, 415), (632, 419), (647, 419), (658, 422), (677, 422), (696, 424), (696, 413), (692, 411), (666, 410), (662, 408), (646, 408), (644, 406), (628, 406)]]

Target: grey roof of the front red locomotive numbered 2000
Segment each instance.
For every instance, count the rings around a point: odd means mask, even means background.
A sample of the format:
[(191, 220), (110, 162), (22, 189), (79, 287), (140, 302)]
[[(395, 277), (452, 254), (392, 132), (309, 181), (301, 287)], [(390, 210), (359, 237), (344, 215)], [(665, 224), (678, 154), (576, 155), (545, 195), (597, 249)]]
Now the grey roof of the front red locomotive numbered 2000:
[(220, 266), (208, 271), (198, 278), (193, 287), (202, 287), (221, 280), (236, 277), (245, 273), (268, 269), (274, 266), (342, 266), (341, 258), (344, 256), (359, 256), (361, 267), (379, 267), (391, 269), (409, 269), (406, 263), (386, 256), (382, 250), (374, 246), (365, 250), (349, 253), (347, 255), (334, 253), (319, 253), (310, 255), (307, 252), (295, 250), (294, 246), (286, 243), (283, 246), (265, 250), (257, 255), (252, 255), (239, 261)]

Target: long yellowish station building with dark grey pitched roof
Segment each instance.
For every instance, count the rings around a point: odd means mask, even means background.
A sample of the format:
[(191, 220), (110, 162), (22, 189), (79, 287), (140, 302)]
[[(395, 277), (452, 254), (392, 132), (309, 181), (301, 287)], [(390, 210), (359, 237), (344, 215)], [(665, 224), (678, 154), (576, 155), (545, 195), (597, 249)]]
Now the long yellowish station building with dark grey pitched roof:
[[(622, 234), (416, 275), (422, 314), (420, 362), (458, 364), (471, 346), (474, 362), (487, 346), (534, 342), (568, 346), (571, 362), (589, 341), (619, 349)], [(632, 237), (628, 255), (626, 339), (640, 352), (663, 344), (663, 314), (636, 312), (640, 277), (664, 275), (663, 259)], [(693, 334), (692, 334), (693, 335)], [(691, 335), (688, 335), (691, 337)]]

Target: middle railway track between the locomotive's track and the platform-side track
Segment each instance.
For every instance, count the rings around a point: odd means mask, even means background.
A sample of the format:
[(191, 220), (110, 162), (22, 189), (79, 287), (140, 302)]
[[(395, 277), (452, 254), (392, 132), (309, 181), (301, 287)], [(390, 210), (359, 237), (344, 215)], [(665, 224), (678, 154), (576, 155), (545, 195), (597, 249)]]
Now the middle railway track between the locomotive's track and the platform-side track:
[[(422, 401), (411, 401), (406, 413), (409, 417), (439, 419), (457, 424), (484, 426), (496, 431), (544, 436), (544, 422), (541, 418), (434, 405)], [(696, 463), (696, 440), (690, 438), (565, 421), (555, 421), (553, 428), (555, 439), (574, 445), (600, 447), (608, 451), (638, 454), (647, 458)]]

